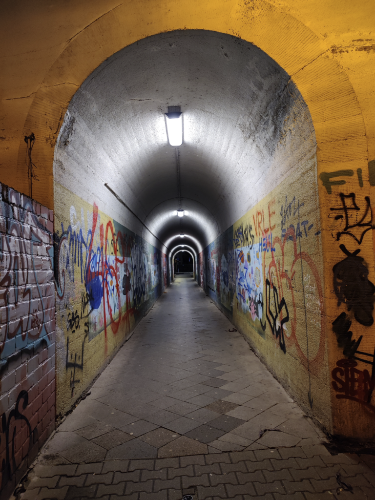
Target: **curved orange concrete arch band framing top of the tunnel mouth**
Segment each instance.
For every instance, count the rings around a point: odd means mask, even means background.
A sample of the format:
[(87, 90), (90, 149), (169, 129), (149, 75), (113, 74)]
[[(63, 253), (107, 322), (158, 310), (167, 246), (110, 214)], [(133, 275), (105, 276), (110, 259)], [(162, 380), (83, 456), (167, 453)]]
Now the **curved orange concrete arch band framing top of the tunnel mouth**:
[[(310, 110), (318, 170), (354, 164), (360, 168), (366, 166), (365, 127), (353, 87), (331, 57), (329, 47), (296, 17), (263, 0), (252, 2), (251, 8), (244, 1), (234, 0), (223, 4), (210, 0), (187, 4), (169, 0), (162, 5), (145, 0), (135, 4), (124, 2), (69, 41), (30, 105), (24, 132), (33, 131), (40, 138), (34, 158), (43, 180), (34, 192), (42, 203), (53, 206), (53, 146), (76, 89), (114, 52), (146, 36), (175, 29), (235, 34), (257, 45), (291, 75)], [(24, 145), (20, 142), (18, 185), (20, 190), (27, 191), (27, 179), (22, 185), (24, 170)]]

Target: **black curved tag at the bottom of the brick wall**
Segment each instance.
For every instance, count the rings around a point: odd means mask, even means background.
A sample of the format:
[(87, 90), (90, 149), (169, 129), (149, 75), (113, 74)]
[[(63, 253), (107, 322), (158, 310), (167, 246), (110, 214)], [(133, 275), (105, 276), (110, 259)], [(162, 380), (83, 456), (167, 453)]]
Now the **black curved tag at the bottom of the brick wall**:
[[(1, 463), (1, 472), (2, 472), (2, 486), (9, 480), (11, 477), (12, 473), (16, 470), (17, 464), (15, 462), (15, 454), (16, 454), (16, 443), (15, 443), (15, 435), (16, 435), (16, 421), (24, 421), (27, 426), (28, 430), (28, 451), (32, 448), (32, 445), (34, 442), (37, 441), (37, 430), (36, 428), (32, 431), (30, 422), (28, 419), (25, 417), (25, 415), (22, 415), (22, 413), (19, 411), (19, 402), (20, 400), (23, 399), (22, 402), (22, 409), (26, 409), (26, 406), (28, 404), (28, 394), (25, 390), (21, 390), (17, 396), (17, 400), (15, 402), (15, 407), (9, 412), (8, 418), (6, 419), (6, 413), (4, 412), (1, 416), (1, 433), (5, 434), (5, 458), (3, 458), (2, 463)], [(12, 419), (14, 420), (14, 428), (13, 428), (13, 434), (11, 436), (11, 443), (9, 439), (9, 431), (10, 431), (10, 426), (12, 423)], [(0, 443), (1, 443), (1, 435), (0, 435)], [(10, 447), (11, 444), (11, 447)], [(22, 443), (23, 444), (23, 443)]]

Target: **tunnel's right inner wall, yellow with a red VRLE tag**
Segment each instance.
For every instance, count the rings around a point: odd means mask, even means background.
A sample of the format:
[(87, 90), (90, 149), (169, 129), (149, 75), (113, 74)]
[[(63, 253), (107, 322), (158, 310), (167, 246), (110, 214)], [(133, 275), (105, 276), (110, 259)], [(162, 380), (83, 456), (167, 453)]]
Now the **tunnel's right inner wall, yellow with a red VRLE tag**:
[(316, 157), (199, 254), (200, 285), (289, 392), (331, 428)]

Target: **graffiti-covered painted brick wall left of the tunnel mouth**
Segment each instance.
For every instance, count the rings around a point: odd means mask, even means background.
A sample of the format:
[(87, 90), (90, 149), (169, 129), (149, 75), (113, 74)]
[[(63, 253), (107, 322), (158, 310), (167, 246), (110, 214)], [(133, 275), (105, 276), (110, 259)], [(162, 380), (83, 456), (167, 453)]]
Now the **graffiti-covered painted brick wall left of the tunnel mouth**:
[(54, 429), (53, 212), (0, 184), (0, 496)]

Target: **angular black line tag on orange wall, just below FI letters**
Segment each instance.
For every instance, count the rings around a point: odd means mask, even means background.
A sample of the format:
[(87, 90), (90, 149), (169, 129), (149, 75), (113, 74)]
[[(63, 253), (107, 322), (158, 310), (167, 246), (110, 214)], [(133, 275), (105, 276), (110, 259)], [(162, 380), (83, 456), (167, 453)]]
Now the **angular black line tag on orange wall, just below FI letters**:
[(374, 228), (370, 198), (364, 196), (364, 206), (360, 208), (355, 201), (355, 193), (343, 194), (341, 192), (339, 197), (341, 206), (333, 207), (330, 210), (341, 212), (334, 218), (335, 220), (343, 219), (345, 226), (342, 230), (337, 231), (334, 237), (338, 241), (343, 235), (351, 236), (358, 244), (361, 244), (365, 233)]

